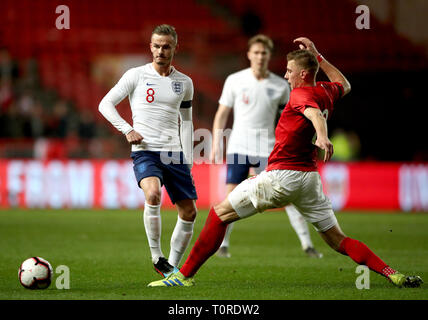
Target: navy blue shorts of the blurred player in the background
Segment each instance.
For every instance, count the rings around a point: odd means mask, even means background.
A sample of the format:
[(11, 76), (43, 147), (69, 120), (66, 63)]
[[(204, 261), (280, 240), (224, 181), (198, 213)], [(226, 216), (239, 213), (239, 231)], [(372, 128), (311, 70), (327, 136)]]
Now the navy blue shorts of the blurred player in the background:
[(250, 168), (254, 168), (256, 174), (262, 172), (267, 166), (268, 158), (247, 156), (237, 153), (226, 155), (227, 177), (226, 183), (240, 184), (248, 178)]

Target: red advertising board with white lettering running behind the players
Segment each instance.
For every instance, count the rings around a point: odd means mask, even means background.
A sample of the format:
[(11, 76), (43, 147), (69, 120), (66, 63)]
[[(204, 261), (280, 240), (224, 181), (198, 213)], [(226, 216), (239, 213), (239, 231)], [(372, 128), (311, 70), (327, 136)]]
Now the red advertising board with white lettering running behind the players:
[[(196, 164), (197, 206), (225, 197), (225, 165)], [(320, 164), (335, 210), (428, 211), (428, 164)], [(0, 207), (139, 208), (144, 194), (130, 160), (0, 160)], [(173, 207), (163, 189), (163, 207)]]

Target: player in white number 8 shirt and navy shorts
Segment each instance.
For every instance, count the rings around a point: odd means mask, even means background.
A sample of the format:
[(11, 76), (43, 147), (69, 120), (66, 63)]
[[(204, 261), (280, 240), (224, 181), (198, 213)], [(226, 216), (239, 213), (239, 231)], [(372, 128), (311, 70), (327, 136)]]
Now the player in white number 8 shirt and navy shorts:
[[(153, 62), (128, 70), (99, 105), (103, 116), (132, 145), (135, 177), (146, 199), (144, 225), (152, 262), (164, 277), (176, 270), (188, 247), (197, 211), (196, 190), (190, 173), (193, 164), (193, 83), (171, 65), (176, 47), (174, 27), (157, 26), (150, 43)], [(127, 96), (132, 110), (132, 126), (115, 107)], [(161, 249), (162, 185), (178, 209), (168, 260)]]

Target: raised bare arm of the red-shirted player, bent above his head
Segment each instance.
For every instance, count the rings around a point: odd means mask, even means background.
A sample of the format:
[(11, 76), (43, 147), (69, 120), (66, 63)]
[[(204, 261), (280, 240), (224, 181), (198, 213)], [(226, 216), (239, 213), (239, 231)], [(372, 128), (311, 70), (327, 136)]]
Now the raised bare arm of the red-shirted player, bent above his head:
[[(351, 91), (351, 84), (349, 83), (348, 79), (346, 79), (346, 77), (339, 71), (339, 69), (337, 69), (320, 55), (311, 40), (305, 37), (300, 37), (295, 39), (293, 42), (298, 43), (300, 49), (308, 50), (309, 52), (312, 52), (316, 57), (321, 58), (321, 61), (319, 63), (321, 70), (324, 71), (324, 73), (327, 75), (328, 79), (331, 82), (339, 82), (343, 86), (343, 95), (346, 95)], [(318, 58), (318, 60), (320, 59)]]

